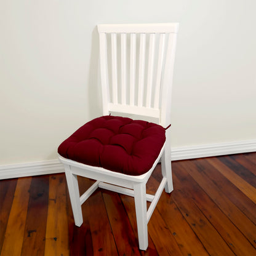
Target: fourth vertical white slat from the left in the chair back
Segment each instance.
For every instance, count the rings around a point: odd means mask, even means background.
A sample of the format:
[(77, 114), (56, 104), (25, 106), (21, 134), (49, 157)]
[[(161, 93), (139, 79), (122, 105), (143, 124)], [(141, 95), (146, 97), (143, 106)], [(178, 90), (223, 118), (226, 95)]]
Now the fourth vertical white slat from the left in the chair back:
[(138, 63), (138, 106), (143, 106), (143, 87), (145, 77), (146, 34), (140, 34), (140, 58)]

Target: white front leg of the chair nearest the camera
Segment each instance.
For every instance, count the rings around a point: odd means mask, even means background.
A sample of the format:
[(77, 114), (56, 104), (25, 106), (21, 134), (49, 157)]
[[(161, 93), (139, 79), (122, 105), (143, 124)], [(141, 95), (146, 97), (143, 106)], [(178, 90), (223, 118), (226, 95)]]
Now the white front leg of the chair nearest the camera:
[(138, 228), (138, 245), (140, 250), (148, 248), (148, 222), (146, 219), (146, 185), (134, 185), (134, 201)]

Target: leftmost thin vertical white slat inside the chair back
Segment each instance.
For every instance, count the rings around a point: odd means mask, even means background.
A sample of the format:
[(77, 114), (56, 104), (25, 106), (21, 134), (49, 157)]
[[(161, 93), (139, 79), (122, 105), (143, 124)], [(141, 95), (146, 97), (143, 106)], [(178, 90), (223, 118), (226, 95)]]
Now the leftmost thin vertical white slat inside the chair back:
[(112, 95), (113, 103), (118, 103), (118, 66), (117, 66), (117, 49), (116, 33), (111, 33), (111, 60), (112, 60)]

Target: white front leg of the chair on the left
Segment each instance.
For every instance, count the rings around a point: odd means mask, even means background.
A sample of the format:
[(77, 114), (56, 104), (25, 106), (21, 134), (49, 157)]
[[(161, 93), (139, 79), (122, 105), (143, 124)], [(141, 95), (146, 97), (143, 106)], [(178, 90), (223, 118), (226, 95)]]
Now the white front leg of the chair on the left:
[(66, 182), (68, 183), (68, 191), (70, 193), (70, 201), (74, 215), (74, 223), (76, 226), (82, 225), (82, 209), (80, 203), (80, 195), (78, 188), (78, 177), (72, 174), (70, 166), (65, 166)]

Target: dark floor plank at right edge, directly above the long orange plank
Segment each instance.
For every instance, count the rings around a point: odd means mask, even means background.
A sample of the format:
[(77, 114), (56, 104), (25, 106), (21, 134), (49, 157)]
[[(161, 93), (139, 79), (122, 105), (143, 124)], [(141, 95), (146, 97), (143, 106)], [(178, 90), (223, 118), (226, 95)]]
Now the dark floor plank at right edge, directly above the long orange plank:
[(247, 170), (246, 167), (239, 164), (239, 162), (234, 161), (230, 156), (219, 156), (218, 159), (222, 161), (225, 166), (233, 170), (235, 174), (239, 175), (239, 177), (256, 188), (256, 176), (252, 174), (250, 170)]

